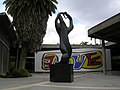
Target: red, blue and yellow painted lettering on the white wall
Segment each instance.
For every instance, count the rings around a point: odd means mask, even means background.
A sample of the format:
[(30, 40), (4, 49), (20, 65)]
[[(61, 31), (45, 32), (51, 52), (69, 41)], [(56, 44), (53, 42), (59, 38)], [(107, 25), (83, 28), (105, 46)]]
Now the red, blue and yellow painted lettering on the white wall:
[[(51, 64), (59, 62), (60, 57), (54, 53), (44, 53), (42, 56), (42, 69), (49, 70)], [(102, 52), (75, 52), (69, 60), (69, 64), (73, 64), (75, 70), (84, 69), (97, 69), (103, 65)]]

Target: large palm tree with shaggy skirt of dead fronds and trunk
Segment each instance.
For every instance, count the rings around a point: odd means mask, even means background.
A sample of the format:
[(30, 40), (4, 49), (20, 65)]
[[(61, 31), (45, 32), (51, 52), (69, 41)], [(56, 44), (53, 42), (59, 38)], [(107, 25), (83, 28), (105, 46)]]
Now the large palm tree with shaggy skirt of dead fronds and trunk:
[(56, 0), (5, 0), (6, 11), (13, 17), (13, 25), (22, 45), (19, 68), (25, 67), (27, 51), (36, 51), (43, 42), (49, 15), (55, 13)]

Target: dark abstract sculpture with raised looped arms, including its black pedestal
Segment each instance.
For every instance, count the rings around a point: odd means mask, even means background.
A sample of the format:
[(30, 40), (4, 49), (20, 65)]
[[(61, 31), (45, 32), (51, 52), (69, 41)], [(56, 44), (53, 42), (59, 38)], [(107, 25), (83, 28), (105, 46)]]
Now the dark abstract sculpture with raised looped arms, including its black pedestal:
[[(69, 26), (66, 26), (65, 19), (69, 20)], [(55, 19), (55, 27), (60, 37), (60, 51), (62, 53), (61, 61), (58, 64), (50, 66), (51, 82), (73, 82), (73, 64), (68, 64), (71, 57), (72, 48), (69, 42), (68, 34), (73, 29), (72, 18), (67, 12), (58, 13)]]

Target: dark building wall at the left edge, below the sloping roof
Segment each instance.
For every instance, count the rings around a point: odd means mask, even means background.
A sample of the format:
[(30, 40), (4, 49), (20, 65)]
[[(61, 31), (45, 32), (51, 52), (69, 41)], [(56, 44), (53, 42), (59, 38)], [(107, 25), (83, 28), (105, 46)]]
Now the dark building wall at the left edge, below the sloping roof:
[(9, 41), (0, 27), (0, 75), (9, 71)]

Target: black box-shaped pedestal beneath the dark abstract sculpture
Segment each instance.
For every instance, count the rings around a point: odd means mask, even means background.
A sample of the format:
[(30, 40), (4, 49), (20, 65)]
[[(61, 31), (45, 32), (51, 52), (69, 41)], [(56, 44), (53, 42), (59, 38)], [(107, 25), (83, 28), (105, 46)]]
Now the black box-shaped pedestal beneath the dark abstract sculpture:
[(73, 82), (72, 64), (55, 64), (50, 66), (51, 82)]

